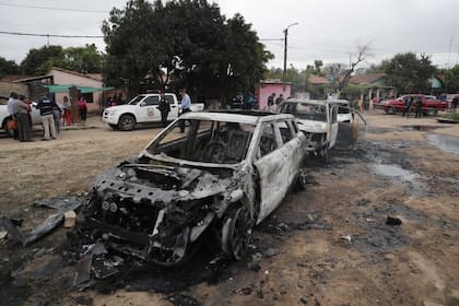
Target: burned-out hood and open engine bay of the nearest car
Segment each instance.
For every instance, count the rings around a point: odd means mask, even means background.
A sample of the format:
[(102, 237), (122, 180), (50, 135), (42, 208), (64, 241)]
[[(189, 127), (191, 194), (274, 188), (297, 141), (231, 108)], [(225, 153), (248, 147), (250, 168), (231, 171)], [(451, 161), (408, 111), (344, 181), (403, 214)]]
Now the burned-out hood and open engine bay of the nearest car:
[(150, 199), (152, 203), (169, 203), (224, 192), (231, 186), (231, 177), (228, 169), (222, 177), (208, 169), (123, 162), (96, 177), (92, 187), (98, 192), (132, 198), (133, 202)]

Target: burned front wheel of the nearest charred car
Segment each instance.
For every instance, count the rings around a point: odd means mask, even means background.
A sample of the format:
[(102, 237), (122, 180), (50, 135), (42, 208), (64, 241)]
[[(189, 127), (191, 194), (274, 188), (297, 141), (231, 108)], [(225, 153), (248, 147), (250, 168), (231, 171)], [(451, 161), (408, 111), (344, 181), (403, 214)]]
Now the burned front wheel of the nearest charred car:
[(222, 229), (222, 248), (231, 258), (240, 260), (251, 242), (254, 222), (245, 205), (233, 209)]

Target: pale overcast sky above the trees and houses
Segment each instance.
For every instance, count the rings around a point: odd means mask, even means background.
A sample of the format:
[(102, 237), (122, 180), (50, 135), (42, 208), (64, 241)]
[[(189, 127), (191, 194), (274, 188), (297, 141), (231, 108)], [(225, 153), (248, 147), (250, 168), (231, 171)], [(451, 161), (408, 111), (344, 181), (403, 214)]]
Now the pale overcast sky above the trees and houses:
[[(459, 63), (459, 1), (457, 0), (215, 0), (222, 14), (242, 14), (275, 58), (268, 67), (283, 67), (283, 30), (289, 25), (287, 66), (304, 69), (355, 60), (360, 45), (369, 44), (367, 67), (396, 54), (432, 56), (438, 68)], [(126, 0), (0, 0), (0, 32), (102, 36), (101, 25), (111, 8)], [(40, 7), (40, 8), (38, 8)], [(54, 8), (42, 9), (42, 8)], [(274, 40), (272, 40), (274, 39)], [(47, 37), (0, 33), (0, 56), (20, 63)], [(102, 38), (49, 37), (62, 47), (96, 44)], [(140, 55), (141, 56), (141, 55)]]

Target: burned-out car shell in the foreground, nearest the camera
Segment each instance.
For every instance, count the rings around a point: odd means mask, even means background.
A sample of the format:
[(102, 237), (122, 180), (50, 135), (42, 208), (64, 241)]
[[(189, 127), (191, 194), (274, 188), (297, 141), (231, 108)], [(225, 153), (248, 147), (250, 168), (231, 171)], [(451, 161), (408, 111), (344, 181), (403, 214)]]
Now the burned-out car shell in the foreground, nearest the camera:
[(85, 221), (107, 247), (149, 262), (184, 262), (203, 239), (240, 259), (297, 179), (304, 141), (292, 115), (184, 114), (95, 179)]

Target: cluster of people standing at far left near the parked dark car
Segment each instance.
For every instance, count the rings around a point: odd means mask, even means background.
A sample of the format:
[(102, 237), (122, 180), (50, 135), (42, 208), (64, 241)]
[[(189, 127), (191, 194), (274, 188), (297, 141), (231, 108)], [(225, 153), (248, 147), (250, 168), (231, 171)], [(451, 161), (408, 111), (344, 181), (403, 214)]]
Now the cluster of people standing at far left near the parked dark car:
[[(83, 96), (78, 102), (80, 119), (86, 121), (87, 106)], [(42, 140), (54, 140), (60, 133), (60, 120), (62, 125), (71, 126), (71, 103), (68, 96), (63, 97), (62, 103), (56, 103), (48, 93), (42, 94), (36, 108), (39, 110), (43, 125)], [(24, 95), (11, 93), (8, 101), (8, 111), (10, 118), (9, 129), (13, 130), (13, 138), (21, 142), (32, 142), (32, 103)]]

